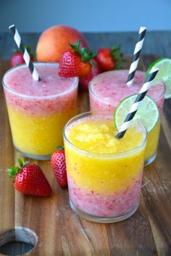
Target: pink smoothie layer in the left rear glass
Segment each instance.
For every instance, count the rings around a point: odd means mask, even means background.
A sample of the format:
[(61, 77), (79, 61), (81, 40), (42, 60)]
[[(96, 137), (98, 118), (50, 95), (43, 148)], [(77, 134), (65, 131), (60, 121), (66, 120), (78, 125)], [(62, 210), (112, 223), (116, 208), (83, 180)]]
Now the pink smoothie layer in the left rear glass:
[(76, 104), (77, 78), (59, 78), (58, 64), (36, 64), (41, 81), (28, 67), (13, 69), (4, 77), (7, 104), (30, 115), (53, 115)]

